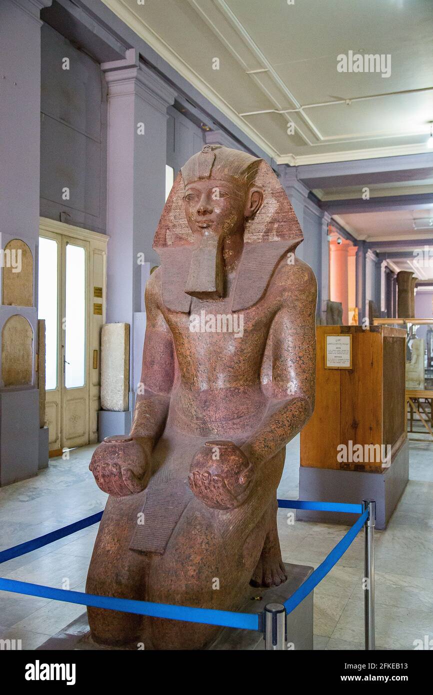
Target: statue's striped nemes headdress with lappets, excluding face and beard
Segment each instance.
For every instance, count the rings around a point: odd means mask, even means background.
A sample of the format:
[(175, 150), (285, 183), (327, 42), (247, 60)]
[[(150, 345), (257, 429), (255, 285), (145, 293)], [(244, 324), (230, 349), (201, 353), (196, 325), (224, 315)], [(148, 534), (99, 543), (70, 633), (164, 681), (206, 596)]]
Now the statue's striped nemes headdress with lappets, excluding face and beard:
[(302, 229), (286, 191), (263, 159), (220, 145), (205, 145), (181, 168), (165, 203), (153, 247), (161, 257), (163, 302), (168, 309), (188, 313), (191, 297), (185, 293), (194, 238), (183, 209), (188, 183), (205, 179), (227, 180), (263, 191), (263, 204), (254, 218), (245, 220), (244, 247), (231, 311), (255, 304), (265, 292), (283, 254), (303, 240)]

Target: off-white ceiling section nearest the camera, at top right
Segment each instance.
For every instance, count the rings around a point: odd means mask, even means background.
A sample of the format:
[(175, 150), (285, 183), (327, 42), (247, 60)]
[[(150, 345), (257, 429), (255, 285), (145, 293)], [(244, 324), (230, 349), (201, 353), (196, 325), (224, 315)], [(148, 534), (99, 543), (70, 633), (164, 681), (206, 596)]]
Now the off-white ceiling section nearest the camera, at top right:
[[(104, 2), (278, 163), (426, 151), (432, 0)], [(338, 72), (350, 50), (390, 54), (391, 76)]]

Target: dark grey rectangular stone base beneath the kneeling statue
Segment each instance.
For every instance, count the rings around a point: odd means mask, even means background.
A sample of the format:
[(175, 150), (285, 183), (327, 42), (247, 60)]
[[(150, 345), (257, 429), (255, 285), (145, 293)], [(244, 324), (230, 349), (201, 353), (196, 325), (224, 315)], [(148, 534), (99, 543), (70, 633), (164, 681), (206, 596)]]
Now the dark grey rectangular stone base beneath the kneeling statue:
[[(240, 607), (242, 613), (261, 613), (266, 603), (284, 603), (313, 572), (312, 567), (284, 563), (288, 580), (272, 589), (250, 587), (245, 602)], [(304, 598), (287, 616), (288, 649), (311, 651), (313, 649), (313, 591)], [(224, 628), (218, 638), (208, 647), (211, 651), (236, 651), (264, 649), (262, 632), (254, 630), (234, 630)], [(72, 621), (63, 630), (47, 639), (36, 651), (137, 651), (137, 645), (124, 647), (105, 647), (96, 644), (90, 637), (87, 613)]]

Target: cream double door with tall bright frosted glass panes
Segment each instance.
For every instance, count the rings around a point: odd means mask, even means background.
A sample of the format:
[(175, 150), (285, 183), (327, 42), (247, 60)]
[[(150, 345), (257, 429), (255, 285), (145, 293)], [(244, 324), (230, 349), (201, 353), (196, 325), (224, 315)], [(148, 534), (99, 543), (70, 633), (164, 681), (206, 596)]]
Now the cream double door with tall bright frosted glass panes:
[[(97, 441), (104, 235), (41, 222), (38, 316), (45, 320), (45, 421), (50, 455)], [(60, 229), (53, 231), (53, 229)], [(83, 239), (80, 236), (88, 236)], [(99, 239), (102, 237), (102, 239)]]

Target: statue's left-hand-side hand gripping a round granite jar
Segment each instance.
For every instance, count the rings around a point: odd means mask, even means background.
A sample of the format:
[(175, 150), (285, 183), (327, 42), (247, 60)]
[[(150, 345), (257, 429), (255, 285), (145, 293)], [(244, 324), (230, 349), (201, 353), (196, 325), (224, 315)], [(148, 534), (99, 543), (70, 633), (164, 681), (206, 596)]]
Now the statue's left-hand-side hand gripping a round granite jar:
[(93, 452), (90, 471), (109, 495), (126, 497), (141, 492), (150, 476), (147, 450), (129, 436), (108, 436)]

